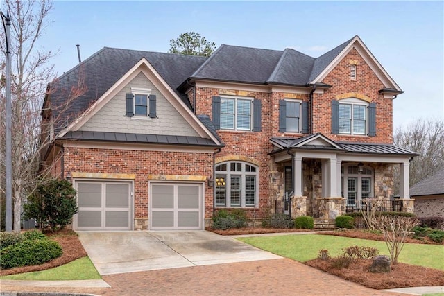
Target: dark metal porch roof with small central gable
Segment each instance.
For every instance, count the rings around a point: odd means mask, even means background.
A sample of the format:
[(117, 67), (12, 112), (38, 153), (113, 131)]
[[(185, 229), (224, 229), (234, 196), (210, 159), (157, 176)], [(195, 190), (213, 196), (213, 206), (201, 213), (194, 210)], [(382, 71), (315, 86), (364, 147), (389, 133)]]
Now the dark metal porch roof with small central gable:
[[(315, 141), (316, 139), (318, 140)], [(418, 153), (414, 153), (392, 144), (335, 142), (321, 133), (309, 134), (308, 136), (300, 138), (272, 137), (270, 141), (278, 148), (277, 150), (273, 150), (270, 154), (279, 153), (280, 151), (287, 149), (309, 149), (337, 150), (341, 153), (353, 154), (404, 155), (407, 157), (419, 155)]]

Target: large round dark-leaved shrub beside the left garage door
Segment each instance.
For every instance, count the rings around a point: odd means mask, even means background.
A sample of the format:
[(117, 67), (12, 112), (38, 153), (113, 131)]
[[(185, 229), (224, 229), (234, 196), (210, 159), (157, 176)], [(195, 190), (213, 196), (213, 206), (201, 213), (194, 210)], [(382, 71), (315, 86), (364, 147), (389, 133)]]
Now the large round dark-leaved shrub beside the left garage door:
[(49, 180), (37, 186), (23, 207), (24, 219), (35, 218), (52, 231), (63, 229), (78, 212), (76, 189), (67, 180)]

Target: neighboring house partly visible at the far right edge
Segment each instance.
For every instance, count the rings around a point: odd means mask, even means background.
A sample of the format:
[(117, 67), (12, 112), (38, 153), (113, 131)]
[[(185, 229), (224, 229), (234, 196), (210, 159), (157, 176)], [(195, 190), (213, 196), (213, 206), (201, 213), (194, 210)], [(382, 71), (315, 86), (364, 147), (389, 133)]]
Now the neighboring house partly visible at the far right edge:
[(444, 218), (444, 169), (410, 188), (418, 217)]

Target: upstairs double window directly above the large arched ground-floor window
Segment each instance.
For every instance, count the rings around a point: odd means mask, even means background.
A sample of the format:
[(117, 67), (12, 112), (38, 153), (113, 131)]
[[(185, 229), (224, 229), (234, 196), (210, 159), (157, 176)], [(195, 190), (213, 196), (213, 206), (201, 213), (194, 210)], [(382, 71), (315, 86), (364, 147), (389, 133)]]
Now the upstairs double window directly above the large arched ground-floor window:
[(221, 129), (251, 130), (251, 99), (221, 97)]

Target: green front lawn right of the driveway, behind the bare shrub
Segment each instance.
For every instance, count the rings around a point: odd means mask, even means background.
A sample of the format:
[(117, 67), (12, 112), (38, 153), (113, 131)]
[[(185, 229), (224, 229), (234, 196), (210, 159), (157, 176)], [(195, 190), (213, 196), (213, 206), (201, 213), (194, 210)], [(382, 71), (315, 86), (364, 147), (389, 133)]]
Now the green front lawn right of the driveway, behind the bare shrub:
[[(237, 239), (259, 247), (262, 250), (300, 262), (315, 259), (318, 256), (318, 250), (321, 249), (327, 249), (331, 256), (337, 256), (342, 253), (341, 250), (343, 248), (350, 247), (350, 245), (377, 247), (379, 254), (389, 254), (386, 243), (383, 241), (369, 241), (340, 236), (305, 234), (300, 236), (257, 236)], [(441, 260), (443, 257), (443, 245), (406, 243), (398, 257), (398, 261), (444, 270), (444, 260)]]

